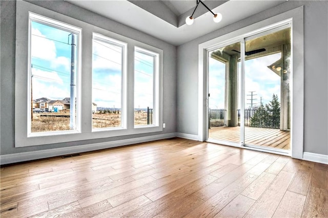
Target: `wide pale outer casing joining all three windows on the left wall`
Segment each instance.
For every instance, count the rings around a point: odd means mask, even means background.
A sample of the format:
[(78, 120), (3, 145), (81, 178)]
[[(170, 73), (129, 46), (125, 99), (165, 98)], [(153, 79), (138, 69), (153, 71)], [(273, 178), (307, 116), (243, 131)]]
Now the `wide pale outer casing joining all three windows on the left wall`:
[[(65, 132), (65, 135), (47, 135), (38, 137), (27, 137), (27, 67), (28, 67), (28, 14), (33, 12), (50, 19), (81, 28), (81, 84), (80, 91), (80, 133)], [(127, 48), (127, 85), (126, 108), (127, 120), (126, 129), (111, 129), (105, 131), (92, 131), (92, 34), (97, 33), (106, 37), (114, 38), (126, 42)], [(134, 47), (144, 48), (159, 54), (159, 99), (158, 99), (158, 126), (149, 125), (143, 128), (134, 128)], [(113, 33), (111, 31), (96, 27), (72, 17), (33, 5), (25, 1), (16, 2), (16, 53), (15, 53), (15, 147), (25, 147), (34, 145), (47, 145), (66, 142), (79, 142), (99, 138), (111, 138), (117, 136), (127, 136), (135, 134), (148, 134), (161, 132), (162, 128), (162, 99), (163, 99), (163, 51), (156, 47), (136, 41), (134, 39)], [(129, 61), (131, 60), (131, 61)], [(69, 133), (69, 134), (68, 134)]]

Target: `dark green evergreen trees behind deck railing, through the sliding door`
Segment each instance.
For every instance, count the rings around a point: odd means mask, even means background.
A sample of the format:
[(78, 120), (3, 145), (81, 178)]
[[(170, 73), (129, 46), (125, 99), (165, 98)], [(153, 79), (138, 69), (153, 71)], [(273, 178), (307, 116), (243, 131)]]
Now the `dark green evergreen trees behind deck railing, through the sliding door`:
[(278, 95), (273, 94), (269, 104), (260, 105), (251, 117), (251, 126), (254, 127), (280, 127), (280, 102)]

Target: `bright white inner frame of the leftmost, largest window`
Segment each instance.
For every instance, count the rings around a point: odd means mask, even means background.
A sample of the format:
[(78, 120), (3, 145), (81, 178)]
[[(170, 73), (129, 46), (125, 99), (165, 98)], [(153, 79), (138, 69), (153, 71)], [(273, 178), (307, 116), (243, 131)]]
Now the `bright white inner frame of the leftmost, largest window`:
[[(36, 132), (36, 133), (32, 133), (31, 132), (31, 113), (29, 111), (28, 108), (31, 107), (31, 23), (32, 21), (36, 21), (39, 24), (44, 24), (44, 25), (48, 25), (51, 27), (54, 27), (56, 29), (60, 29), (60, 30), (64, 30), (64, 31), (68, 31), (71, 33), (76, 34), (77, 37), (77, 67), (76, 67), (76, 128), (73, 130), (63, 130), (63, 131), (53, 131), (53, 132)], [(66, 24), (64, 22), (61, 21), (57, 21), (55, 19), (51, 19), (45, 16), (41, 16), (32, 12), (29, 12), (29, 23), (28, 23), (28, 88), (27, 88), (27, 137), (39, 137), (39, 136), (57, 136), (57, 135), (64, 135), (64, 134), (74, 134), (74, 133), (80, 133), (81, 132), (81, 128), (80, 128), (80, 123), (81, 123), (81, 116), (80, 116), (80, 93), (81, 93), (81, 77), (80, 75), (80, 60), (81, 60), (81, 49), (80, 49), (80, 45), (81, 45), (81, 32), (82, 29), (78, 28), (78, 27), (74, 27), (72, 25)], [(44, 104), (44, 103), (43, 103)]]

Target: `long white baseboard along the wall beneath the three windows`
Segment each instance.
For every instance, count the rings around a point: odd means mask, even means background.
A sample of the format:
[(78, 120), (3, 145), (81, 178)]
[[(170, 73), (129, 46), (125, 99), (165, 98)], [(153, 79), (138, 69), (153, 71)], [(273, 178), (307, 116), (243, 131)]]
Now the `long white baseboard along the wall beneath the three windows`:
[(133, 139), (124, 139), (124, 140), (117, 140), (111, 142), (102, 142), (102, 143), (95, 143), (95, 144), (87, 144), (87, 145), (79, 145), (79, 146), (71, 146), (71, 147), (63, 147), (63, 148), (53, 148), (53, 149), (46, 149), (46, 150), (37, 150), (37, 151), (28, 151), (23, 153), (17, 154), (9, 154), (9, 155), (1, 155), (0, 156), (0, 164), (11, 164), (17, 163), (22, 161), (30, 161), (30, 160), (37, 160), (42, 158), (50, 158), (62, 155), (69, 155), (69, 154), (76, 154), (79, 152), (86, 152), (92, 150), (99, 150), (111, 147), (118, 147), (122, 145), (131, 145), (136, 143), (142, 142), (149, 142), (155, 141), (160, 139), (168, 139), (176, 137), (176, 133), (168, 133), (168, 134), (161, 134), (155, 136), (146, 136), (146, 137), (139, 137)]

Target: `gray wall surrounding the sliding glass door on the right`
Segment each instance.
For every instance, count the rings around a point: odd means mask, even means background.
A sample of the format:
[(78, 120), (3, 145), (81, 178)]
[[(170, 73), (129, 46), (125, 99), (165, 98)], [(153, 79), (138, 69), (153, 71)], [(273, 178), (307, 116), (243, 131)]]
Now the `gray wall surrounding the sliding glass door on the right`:
[[(328, 155), (328, 2), (289, 1), (177, 48), (177, 132), (198, 135), (198, 45), (304, 5), (304, 152)], [(294, 93), (297, 95), (297, 93)]]

